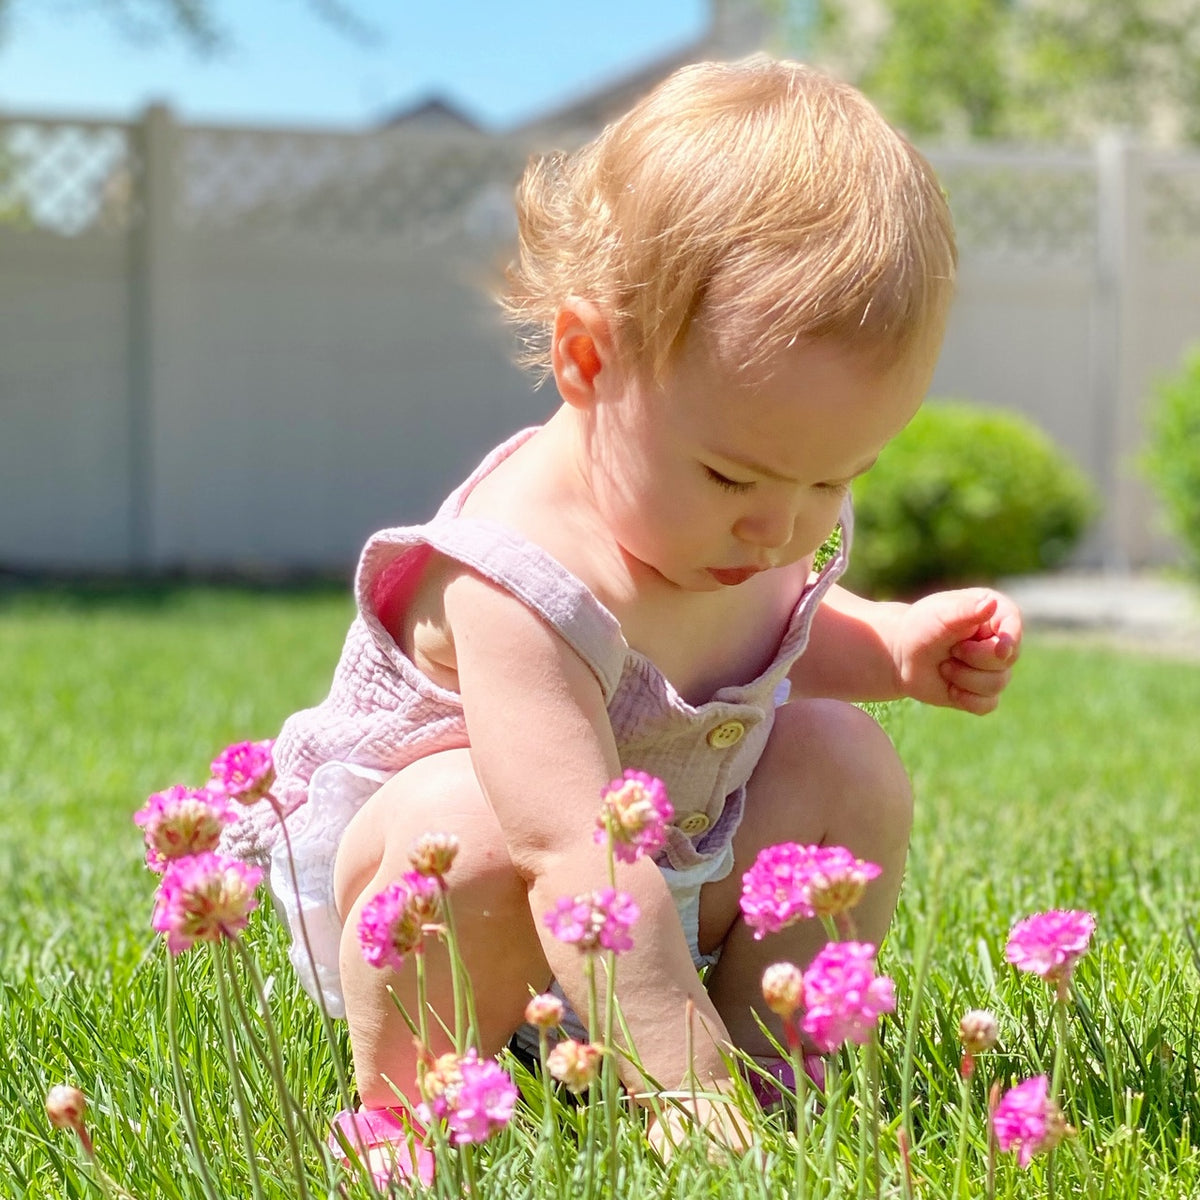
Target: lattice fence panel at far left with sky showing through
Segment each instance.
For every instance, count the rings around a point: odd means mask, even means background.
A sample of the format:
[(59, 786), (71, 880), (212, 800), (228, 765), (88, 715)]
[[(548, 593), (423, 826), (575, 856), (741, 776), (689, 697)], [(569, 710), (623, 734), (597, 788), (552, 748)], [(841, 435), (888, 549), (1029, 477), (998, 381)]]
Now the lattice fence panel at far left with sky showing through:
[(0, 122), (0, 228), (125, 233), (140, 220), (138, 170), (128, 126)]

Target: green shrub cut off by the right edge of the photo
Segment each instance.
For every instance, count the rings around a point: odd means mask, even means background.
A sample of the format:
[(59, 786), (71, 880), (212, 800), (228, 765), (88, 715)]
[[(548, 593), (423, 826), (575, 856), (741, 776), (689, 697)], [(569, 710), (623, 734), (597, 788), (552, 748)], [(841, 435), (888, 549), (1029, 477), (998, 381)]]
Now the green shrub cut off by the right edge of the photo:
[(1152, 392), (1146, 473), (1183, 544), (1192, 571), (1200, 575), (1200, 346), (1180, 370)]

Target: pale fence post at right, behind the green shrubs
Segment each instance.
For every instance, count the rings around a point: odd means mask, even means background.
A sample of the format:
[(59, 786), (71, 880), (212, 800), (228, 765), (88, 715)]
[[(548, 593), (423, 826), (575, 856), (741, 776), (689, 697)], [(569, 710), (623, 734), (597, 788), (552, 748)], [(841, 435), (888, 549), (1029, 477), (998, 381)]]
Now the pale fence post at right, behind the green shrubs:
[(1128, 456), (1140, 439), (1139, 388), (1134, 340), (1138, 336), (1138, 270), (1145, 212), (1142, 161), (1121, 132), (1100, 136), (1097, 167), (1097, 294), (1092, 320), (1092, 390), (1096, 396), (1103, 475), (1100, 487), (1104, 565), (1127, 571), (1145, 559), (1136, 480)]

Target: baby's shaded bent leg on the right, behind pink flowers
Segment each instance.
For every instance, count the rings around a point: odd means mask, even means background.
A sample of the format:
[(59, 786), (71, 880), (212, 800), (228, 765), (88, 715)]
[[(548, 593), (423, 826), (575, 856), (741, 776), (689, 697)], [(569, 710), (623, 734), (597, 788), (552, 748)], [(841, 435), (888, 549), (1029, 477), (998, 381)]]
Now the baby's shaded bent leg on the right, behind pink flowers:
[(853, 910), (856, 938), (878, 946), (895, 911), (911, 827), (908, 776), (870, 716), (838, 701), (796, 701), (779, 710), (746, 790), (733, 870), (701, 894), (700, 947), (721, 947), (708, 990), (736, 1045), (751, 1055), (774, 1052), (752, 1015), (781, 1036), (779, 1018), (762, 1000), (762, 972), (772, 962), (804, 967), (827, 941), (817, 920), (754, 940), (738, 901), (758, 851), (784, 841), (840, 845), (878, 863), (883, 874)]

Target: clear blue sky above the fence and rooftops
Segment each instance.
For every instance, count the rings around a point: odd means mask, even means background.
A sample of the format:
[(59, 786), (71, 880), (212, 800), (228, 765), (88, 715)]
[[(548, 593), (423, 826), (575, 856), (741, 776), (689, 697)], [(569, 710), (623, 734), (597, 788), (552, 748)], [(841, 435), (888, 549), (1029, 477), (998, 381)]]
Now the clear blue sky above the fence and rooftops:
[[(503, 128), (700, 37), (707, 0), (343, 0), (364, 46), (306, 0), (212, 0), (230, 49), (122, 38), (98, 0), (10, 0), (0, 109), (127, 116), (166, 100), (190, 120), (356, 126), (438, 92)], [(130, 7), (136, 8), (137, 5)]]

